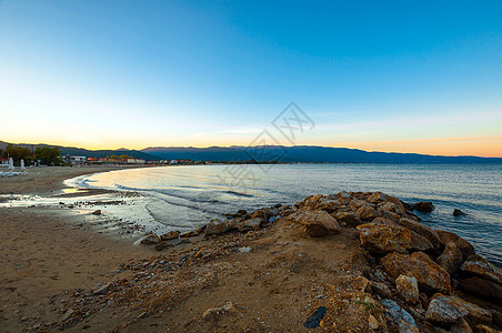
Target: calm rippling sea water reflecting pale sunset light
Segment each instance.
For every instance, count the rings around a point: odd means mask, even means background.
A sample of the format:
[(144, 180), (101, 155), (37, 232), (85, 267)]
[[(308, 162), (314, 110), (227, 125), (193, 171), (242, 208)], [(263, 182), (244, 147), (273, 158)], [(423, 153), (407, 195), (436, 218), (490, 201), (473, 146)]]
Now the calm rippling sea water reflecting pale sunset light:
[[(113, 171), (86, 186), (139, 191), (160, 223), (189, 229), (222, 213), (339, 191), (382, 191), (406, 202), (432, 201), (424, 223), (458, 233), (502, 265), (502, 164), (187, 165)], [(468, 215), (455, 218), (453, 209)]]

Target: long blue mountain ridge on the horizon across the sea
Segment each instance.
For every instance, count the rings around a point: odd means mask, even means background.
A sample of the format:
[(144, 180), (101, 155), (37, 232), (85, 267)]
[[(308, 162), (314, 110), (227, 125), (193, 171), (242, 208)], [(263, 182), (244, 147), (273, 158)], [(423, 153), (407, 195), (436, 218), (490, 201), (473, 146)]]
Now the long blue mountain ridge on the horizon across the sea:
[(315, 145), (269, 145), (260, 149), (247, 147), (151, 147), (141, 151), (157, 155), (162, 160), (190, 159), (194, 161), (245, 161), (254, 159), (257, 161), (302, 163), (502, 163), (502, 158), (368, 152), (359, 149)]

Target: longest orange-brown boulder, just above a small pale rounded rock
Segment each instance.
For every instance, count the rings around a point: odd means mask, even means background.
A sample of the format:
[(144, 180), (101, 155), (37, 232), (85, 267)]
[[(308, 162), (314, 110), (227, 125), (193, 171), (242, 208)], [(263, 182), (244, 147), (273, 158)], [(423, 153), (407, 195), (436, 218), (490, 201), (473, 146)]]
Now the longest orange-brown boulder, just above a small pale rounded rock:
[(423, 252), (411, 255), (390, 253), (382, 259), (383, 268), (393, 279), (414, 276), (420, 287), (436, 292), (451, 292), (450, 274)]

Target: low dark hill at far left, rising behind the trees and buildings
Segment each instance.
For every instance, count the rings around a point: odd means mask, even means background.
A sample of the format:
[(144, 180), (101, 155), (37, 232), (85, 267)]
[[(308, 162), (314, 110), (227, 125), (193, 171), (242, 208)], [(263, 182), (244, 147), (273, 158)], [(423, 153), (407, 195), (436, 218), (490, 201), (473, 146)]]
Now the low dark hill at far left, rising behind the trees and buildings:
[[(4, 149), (9, 144), (8, 142), (0, 141), (0, 149)], [(13, 143), (16, 145), (26, 147), (28, 149), (37, 149), (38, 147), (54, 147), (53, 144), (46, 144), (46, 143), (38, 143), (38, 144), (30, 144), (30, 143)], [(138, 150), (129, 150), (129, 149), (119, 149), (119, 150), (88, 150), (83, 148), (74, 148), (74, 147), (61, 147), (61, 154), (67, 155), (78, 155), (78, 157), (87, 157), (87, 158), (106, 158), (107, 155), (130, 155), (134, 159), (143, 159), (147, 161), (158, 161), (160, 158), (151, 155), (149, 153), (138, 151)]]

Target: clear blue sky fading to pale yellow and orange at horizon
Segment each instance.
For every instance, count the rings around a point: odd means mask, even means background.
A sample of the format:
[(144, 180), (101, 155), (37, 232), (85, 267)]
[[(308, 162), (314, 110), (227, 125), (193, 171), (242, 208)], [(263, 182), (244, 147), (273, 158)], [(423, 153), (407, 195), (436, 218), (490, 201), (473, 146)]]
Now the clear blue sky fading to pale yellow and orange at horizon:
[[(297, 119), (293, 139), (278, 118)], [(0, 140), (143, 149), (263, 133), (502, 157), (502, 1), (0, 0)]]

